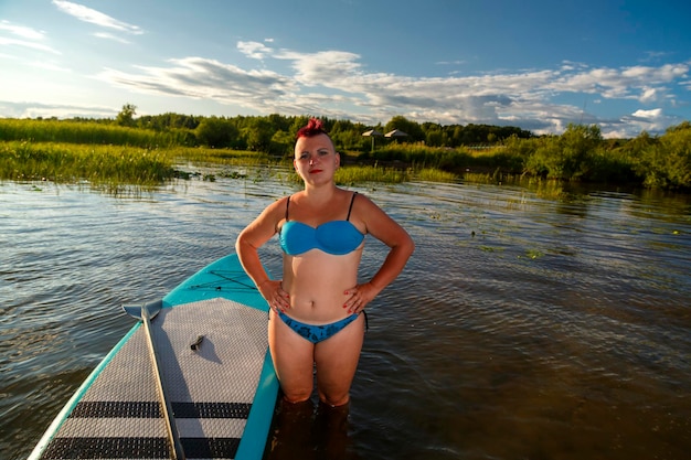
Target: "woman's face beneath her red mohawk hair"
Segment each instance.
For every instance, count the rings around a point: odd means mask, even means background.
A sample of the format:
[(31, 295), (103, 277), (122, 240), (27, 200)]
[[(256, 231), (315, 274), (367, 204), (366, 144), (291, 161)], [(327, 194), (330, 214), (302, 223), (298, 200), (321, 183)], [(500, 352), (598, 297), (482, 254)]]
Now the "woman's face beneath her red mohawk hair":
[(340, 162), (327, 135), (301, 137), (295, 142), (293, 164), (305, 182), (331, 181)]

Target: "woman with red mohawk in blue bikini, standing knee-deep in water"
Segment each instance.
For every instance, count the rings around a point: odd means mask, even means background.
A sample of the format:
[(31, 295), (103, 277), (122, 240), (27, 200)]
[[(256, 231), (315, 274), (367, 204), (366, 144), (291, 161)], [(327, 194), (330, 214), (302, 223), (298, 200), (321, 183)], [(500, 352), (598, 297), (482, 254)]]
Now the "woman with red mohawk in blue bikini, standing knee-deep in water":
[[(268, 205), (240, 234), (235, 248), (270, 307), (268, 342), (284, 398), (309, 399), (316, 366), (320, 402), (342, 406), (364, 340), (361, 313), (403, 270), (414, 244), (366, 196), (336, 186), (340, 156), (319, 120), (298, 131), (294, 165), (305, 189)], [(257, 249), (276, 233), (283, 279), (272, 280)], [(358, 284), (365, 234), (390, 252), (372, 279)]]

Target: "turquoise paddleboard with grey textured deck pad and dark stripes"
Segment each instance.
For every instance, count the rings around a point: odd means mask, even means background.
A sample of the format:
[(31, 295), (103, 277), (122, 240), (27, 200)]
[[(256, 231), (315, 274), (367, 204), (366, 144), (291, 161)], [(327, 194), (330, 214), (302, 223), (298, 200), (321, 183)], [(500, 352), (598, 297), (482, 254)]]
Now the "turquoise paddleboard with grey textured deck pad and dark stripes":
[[(237, 256), (203, 268), (160, 307), (150, 321), (151, 339), (185, 458), (261, 459), (278, 381), (268, 353), (268, 306)], [(29, 460), (170, 459), (147, 345), (137, 322), (67, 402)]]

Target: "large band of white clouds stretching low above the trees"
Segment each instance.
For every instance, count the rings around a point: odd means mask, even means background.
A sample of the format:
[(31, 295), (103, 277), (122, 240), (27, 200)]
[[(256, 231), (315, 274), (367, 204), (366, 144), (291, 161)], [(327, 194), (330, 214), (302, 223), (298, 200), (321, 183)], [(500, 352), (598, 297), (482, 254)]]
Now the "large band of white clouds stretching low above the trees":
[[(411, 77), (369, 73), (355, 53), (300, 53), (270, 43), (237, 43), (244, 55), (262, 61), (261, 69), (190, 56), (161, 66), (107, 68), (96, 78), (136, 93), (189, 97), (257, 114), (319, 114), (368, 124), (403, 115), (444, 125), (514, 125), (536, 133), (559, 133), (568, 124), (584, 122), (599, 125), (605, 137), (635, 137), (642, 129), (658, 131), (680, 122), (662, 108), (646, 105), (673, 105), (670, 87), (689, 85), (691, 65), (614, 68), (567, 62), (555, 68)], [(276, 61), (289, 65), (276, 66)], [(620, 117), (597, 118), (584, 110), (584, 96), (609, 113), (619, 105), (629, 109)], [(576, 99), (580, 103), (568, 103)], [(637, 103), (642, 107), (631, 110)]]

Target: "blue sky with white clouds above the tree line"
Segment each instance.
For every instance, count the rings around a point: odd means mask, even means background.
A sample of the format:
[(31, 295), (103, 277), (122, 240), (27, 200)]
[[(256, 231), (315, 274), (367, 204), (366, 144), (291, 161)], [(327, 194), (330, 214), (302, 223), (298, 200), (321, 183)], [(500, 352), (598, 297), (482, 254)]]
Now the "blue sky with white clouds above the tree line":
[(0, 0), (0, 116), (402, 115), (605, 137), (691, 119), (683, 1)]

